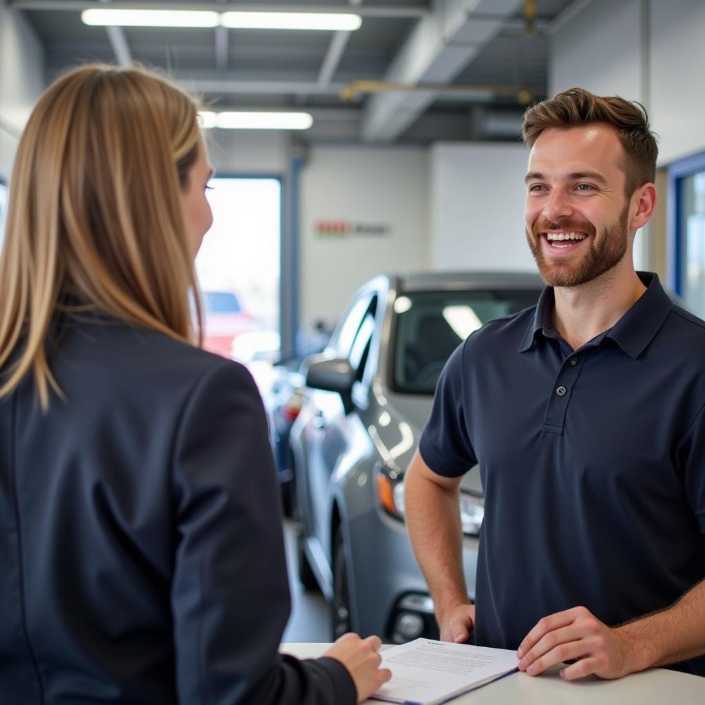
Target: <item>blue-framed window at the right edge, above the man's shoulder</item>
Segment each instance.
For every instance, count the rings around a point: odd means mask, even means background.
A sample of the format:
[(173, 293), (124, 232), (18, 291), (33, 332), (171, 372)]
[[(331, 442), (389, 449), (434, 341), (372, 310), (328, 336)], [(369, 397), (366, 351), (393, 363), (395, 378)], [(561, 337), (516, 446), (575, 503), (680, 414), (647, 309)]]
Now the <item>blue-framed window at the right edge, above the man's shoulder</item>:
[(705, 317), (705, 152), (668, 167), (669, 285)]

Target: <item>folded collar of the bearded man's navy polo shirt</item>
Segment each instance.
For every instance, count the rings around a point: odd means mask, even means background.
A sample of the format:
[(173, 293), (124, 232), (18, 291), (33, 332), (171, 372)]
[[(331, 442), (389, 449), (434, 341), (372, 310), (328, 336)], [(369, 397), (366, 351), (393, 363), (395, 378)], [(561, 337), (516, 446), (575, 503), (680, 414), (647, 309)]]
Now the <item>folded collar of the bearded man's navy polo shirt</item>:
[[(623, 317), (603, 334), (603, 337), (611, 338), (627, 355), (634, 358), (639, 357), (651, 343), (673, 307), (668, 294), (658, 281), (657, 274), (643, 271), (637, 274), (646, 286), (646, 291)], [(522, 338), (520, 353), (525, 353), (532, 347), (539, 332), (546, 336), (555, 331), (551, 316), (554, 302), (553, 287), (546, 286), (541, 292), (534, 317)]]

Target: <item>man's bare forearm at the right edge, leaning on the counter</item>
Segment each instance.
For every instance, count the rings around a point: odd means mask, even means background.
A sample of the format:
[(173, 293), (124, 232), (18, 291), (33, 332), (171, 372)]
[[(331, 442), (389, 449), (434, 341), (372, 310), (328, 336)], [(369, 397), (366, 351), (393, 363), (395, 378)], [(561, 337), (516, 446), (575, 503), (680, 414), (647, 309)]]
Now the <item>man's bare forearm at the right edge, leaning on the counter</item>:
[(618, 627), (629, 638), (634, 668), (667, 666), (705, 654), (705, 580), (669, 608)]

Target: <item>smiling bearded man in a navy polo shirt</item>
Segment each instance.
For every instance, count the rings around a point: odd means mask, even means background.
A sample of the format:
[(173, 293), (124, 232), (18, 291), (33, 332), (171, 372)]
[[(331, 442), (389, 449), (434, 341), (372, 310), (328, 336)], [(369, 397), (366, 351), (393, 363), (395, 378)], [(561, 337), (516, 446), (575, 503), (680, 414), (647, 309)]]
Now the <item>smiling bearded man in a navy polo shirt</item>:
[[(632, 265), (654, 135), (641, 106), (574, 89), (530, 108), (523, 137), (548, 286), (453, 353), (405, 482), (441, 639), (517, 649), (529, 675), (705, 675), (705, 323)], [(458, 516), (476, 463), (477, 613)]]

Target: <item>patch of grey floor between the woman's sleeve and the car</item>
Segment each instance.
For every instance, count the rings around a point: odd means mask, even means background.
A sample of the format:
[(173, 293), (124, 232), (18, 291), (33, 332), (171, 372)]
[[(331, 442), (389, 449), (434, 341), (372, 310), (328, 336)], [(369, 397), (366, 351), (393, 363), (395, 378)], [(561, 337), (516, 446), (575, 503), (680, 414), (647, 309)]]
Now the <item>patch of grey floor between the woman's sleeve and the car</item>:
[(286, 564), (291, 590), (291, 616), (282, 642), (330, 642), (331, 608), (319, 592), (305, 592), (298, 579), (296, 535), (292, 522), (284, 521)]

